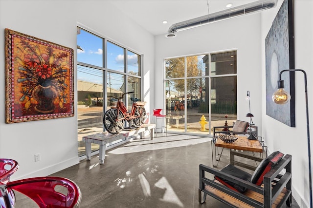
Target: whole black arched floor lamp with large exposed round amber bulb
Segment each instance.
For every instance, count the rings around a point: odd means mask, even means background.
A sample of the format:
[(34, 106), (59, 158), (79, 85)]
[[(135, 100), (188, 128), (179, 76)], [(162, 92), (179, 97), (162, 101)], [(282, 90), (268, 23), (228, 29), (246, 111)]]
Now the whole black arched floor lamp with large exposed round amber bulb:
[(312, 175), (311, 175), (311, 147), (310, 147), (310, 126), (309, 126), (309, 107), (308, 107), (308, 87), (307, 74), (302, 69), (286, 69), (279, 73), (278, 90), (273, 94), (272, 99), (277, 104), (286, 104), (290, 101), (290, 94), (284, 90), (284, 80), (282, 80), (283, 72), (302, 72), (304, 74), (305, 86), (305, 104), (307, 110), (307, 133), (308, 133), (308, 156), (309, 156), (309, 187), (310, 187), (310, 208), (312, 208)]

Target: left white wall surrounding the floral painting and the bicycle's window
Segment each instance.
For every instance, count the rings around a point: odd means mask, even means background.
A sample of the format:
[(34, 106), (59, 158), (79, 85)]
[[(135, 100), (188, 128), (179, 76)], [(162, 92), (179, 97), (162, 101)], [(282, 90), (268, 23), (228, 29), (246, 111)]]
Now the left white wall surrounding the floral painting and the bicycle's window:
[[(20, 169), (12, 179), (46, 176), (79, 163), (77, 152), (76, 26), (83, 24), (105, 38), (144, 55), (143, 76), (149, 83), (154, 67), (154, 37), (106, 1), (0, 0), (0, 158), (12, 158)], [(4, 28), (74, 49), (75, 116), (5, 123)], [(144, 99), (150, 88), (145, 84)], [(34, 162), (34, 154), (41, 160)]]

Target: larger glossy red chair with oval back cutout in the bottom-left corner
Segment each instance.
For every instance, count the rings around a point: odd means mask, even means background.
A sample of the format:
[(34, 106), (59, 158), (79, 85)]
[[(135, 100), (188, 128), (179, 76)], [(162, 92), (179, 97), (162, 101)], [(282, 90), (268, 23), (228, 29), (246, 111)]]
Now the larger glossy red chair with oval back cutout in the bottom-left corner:
[(76, 208), (81, 192), (75, 182), (60, 177), (36, 177), (8, 182), (0, 186), (1, 208), (14, 208), (12, 190), (34, 200), (39, 208)]

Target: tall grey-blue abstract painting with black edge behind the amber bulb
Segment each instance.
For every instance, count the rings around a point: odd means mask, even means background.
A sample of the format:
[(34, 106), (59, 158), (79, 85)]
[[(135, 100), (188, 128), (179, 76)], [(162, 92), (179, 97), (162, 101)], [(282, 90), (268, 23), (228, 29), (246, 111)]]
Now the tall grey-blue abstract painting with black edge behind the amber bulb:
[(292, 0), (284, 0), (265, 39), (266, 114), (290, 127), (295, 127), (294, 72), (282, 74), (285, 90), (291, 95), (290, 102), (278, 105), (272, 101), (272, 95), (277, 90), (279, 73), (294, 69), (293, 34)]

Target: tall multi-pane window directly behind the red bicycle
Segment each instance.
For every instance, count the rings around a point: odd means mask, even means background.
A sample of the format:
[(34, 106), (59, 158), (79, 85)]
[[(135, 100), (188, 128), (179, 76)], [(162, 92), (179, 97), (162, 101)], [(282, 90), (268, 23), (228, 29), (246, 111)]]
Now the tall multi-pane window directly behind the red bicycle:
[[(78, 153), (82, 156), (82, 137), (104, 131), (103, 114), (116, 105), (116, 97), (134, 92), (132, 97), (141, 98), (141, 56), (77, 27), (77, 62)], [(124, 102), (132, 106), (130, 99)], [(99, 145), (91, 148), (96, 151)]]

